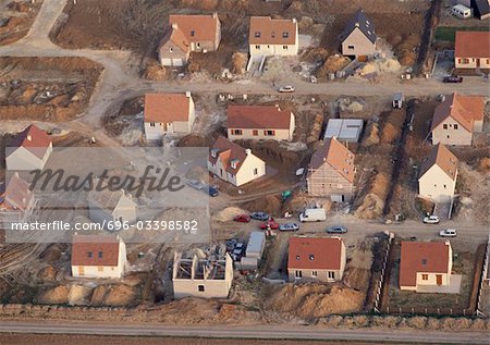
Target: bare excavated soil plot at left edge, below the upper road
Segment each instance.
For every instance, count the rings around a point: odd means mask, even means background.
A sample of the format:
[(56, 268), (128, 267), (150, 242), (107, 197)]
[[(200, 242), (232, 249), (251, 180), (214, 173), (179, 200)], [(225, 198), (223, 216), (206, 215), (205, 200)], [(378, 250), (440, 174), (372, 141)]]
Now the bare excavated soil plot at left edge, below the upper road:
[(74, 119), (85, 111), (101, 72), (83, 58), (0, 58), (0, 120)]

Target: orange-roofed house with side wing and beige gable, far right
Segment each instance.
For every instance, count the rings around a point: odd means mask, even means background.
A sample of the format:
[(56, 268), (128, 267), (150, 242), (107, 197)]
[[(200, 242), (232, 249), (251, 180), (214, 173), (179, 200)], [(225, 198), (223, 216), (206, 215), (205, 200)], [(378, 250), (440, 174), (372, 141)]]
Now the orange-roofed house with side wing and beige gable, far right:
[(481, 96), (446, 96), (433, 112), (432, 144), (471, 145), (473, 133), (483, 131), (483, 110)]

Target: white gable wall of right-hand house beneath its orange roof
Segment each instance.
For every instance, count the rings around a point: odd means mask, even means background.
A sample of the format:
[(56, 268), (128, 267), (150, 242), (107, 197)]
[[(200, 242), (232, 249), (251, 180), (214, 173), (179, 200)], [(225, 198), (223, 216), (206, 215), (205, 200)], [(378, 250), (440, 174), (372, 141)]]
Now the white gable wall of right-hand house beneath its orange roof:
[(418, 188), (420, 195), (433, 199), (436, 202), (448, 202), (454, 196), (457, 180), (453, 181), (441, 168), (432, 165), (420, 178)]

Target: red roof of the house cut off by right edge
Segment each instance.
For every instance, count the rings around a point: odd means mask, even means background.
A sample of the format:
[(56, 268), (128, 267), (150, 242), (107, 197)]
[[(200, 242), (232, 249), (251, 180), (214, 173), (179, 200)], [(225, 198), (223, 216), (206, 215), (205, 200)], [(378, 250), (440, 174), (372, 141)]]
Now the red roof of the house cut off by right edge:
[(456, 58), (490, 58), (490, 32), (456, 32)]

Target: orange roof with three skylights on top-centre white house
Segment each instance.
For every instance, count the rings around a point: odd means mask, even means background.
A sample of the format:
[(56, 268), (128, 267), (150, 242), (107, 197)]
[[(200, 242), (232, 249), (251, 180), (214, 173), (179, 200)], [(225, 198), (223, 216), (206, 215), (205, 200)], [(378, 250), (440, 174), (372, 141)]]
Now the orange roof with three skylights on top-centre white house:
[(297, 22), (293, 20), (273, 20), (270, 16), (252, 16), (248, 30), (250, 45), (294, 45), (296, 42)]

